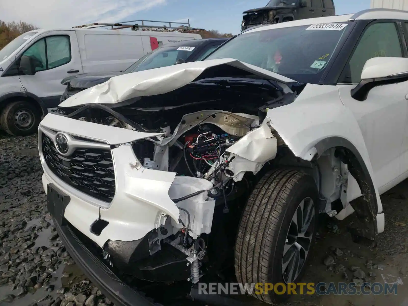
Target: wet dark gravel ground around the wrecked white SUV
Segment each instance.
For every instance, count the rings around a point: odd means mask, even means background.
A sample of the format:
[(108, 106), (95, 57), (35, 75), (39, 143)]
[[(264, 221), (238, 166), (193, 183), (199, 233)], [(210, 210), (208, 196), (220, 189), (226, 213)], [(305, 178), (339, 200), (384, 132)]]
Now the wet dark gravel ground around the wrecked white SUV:
[[(7, 137), (0, 131), (0, 305), (113, 305), (84, 277), (58, 238), (41, 175), (36, 135)], [(405, 283), (407, 197), (407, 181), (382, 196), (386, 231), (374, 249), (353, 244), (346, 222), (323, 222), (304, 282)], [(286, 305), (408, 305), (404, 285), (398, 288), (397, 295), (297, 295)]]

